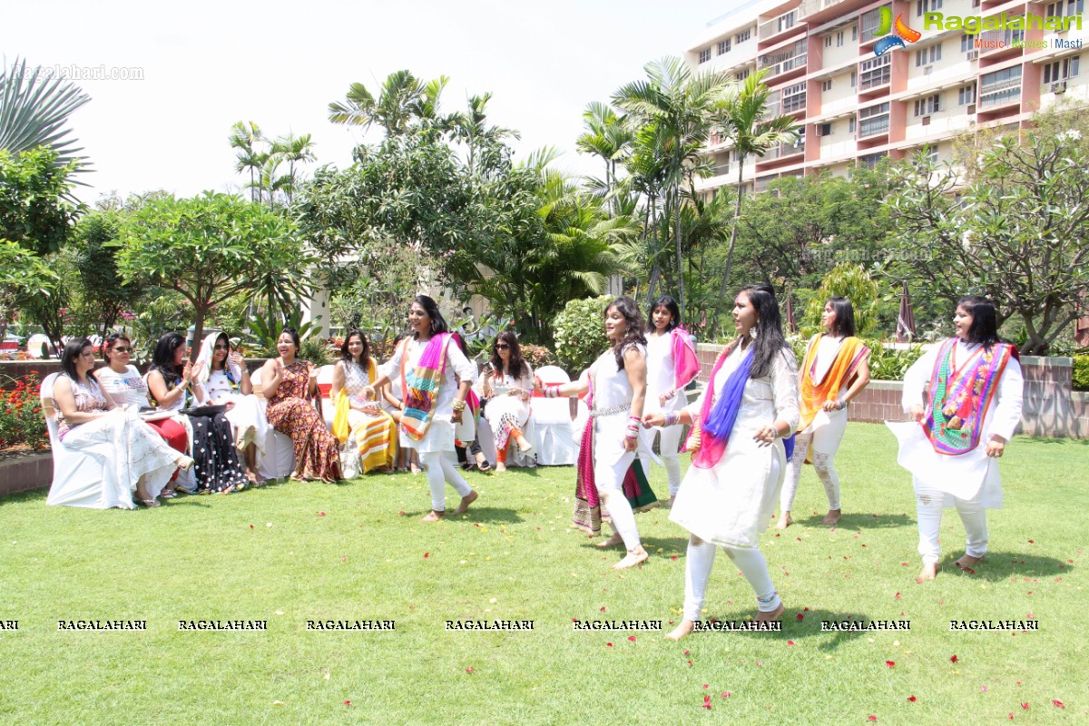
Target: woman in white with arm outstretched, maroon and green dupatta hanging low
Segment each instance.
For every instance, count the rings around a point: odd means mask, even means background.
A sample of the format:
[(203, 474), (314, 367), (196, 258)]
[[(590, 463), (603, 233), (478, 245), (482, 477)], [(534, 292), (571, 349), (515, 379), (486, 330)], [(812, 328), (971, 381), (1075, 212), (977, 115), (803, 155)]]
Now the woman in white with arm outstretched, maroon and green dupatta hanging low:
[(629, 297), (605, 308), (605, 336), (613, 344), (577, 381), (534, 385), (548, 397), (589, 393), (590, 416), (583, 433), (575, 487), (575, 525), (592, 537), (601, 527), (601, 504), (614, 534), (598, 546), (624, 543), (627, 554), (613, 569), (635, 567), (649, 555), (639, 540), (635, 510), (654, 506), (657, 497), (637, 459), (639, 421), (647, 390), (643, 316)]

